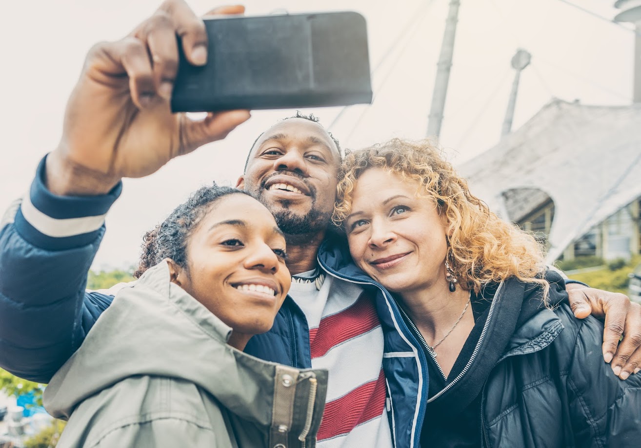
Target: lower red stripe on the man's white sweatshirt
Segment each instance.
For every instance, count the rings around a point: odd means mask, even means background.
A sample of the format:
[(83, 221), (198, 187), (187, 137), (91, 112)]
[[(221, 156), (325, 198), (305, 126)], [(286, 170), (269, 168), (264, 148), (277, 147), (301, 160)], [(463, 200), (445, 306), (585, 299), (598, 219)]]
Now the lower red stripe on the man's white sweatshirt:
[(325, 405), (318, 440), (349, 433), (356, 426), (383, 415), (385, 374)]

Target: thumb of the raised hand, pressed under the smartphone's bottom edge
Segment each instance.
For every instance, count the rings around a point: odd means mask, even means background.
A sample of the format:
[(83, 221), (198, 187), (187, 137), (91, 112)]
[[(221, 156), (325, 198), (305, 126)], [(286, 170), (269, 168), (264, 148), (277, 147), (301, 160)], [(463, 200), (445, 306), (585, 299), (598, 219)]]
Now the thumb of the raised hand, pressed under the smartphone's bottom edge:
[(224, 139), (238, 125), (246, 122), (251, 114), (247, 110), (208, 113), (203, 120), (183, 121), (183, 150), (181, 154), (192, 152), (212, 141)]

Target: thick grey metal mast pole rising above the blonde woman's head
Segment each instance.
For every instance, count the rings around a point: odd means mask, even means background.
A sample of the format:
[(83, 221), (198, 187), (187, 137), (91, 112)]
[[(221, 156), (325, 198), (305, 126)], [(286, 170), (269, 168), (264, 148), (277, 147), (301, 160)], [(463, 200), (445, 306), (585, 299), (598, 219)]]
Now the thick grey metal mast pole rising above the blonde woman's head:
[(449, 72), (452, 68), (452, 54), (454, 52), (454, 37), (456, 37), (456, 23), (458, 22), (458, 6), (460, 0), (451, 0), (447, 22), (445, 22), (445, 33), (441, 45), (440, 56), (438, 56), (437, 77), (434, 82), (432, 93), (432, 105), (429, 109), (428, 136), (439, 136), (440, 127), (443, 122), (443, 110), (445, 109), (445, 96), (447, 95), (447, 84), (449, 83)]

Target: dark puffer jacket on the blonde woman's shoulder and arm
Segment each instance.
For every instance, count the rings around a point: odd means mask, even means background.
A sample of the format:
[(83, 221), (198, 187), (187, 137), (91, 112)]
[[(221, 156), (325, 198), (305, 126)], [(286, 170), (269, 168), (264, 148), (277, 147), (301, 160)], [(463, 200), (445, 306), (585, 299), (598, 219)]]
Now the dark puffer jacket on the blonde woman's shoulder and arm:
[[(509, 280), (501, 300), (523, 294), (524, 285)], [(641, 377), (619, 380), (602, 342), (603, 323), (576, 319), (566, 303), (517, 328), (483, 388), (484, 445), (637, 447)]]

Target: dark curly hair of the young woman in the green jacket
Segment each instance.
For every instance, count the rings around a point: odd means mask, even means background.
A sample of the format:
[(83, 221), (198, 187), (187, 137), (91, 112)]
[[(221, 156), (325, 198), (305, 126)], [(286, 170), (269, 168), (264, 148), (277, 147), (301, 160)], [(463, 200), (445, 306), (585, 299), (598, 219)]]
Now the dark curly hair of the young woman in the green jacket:
[(189, 196), (188, 200), (178, 205), (167, 219), (149, 230), (142, 237), (142, 253), (138, 268), (133, 273), (140, 278), (145, 271), (170, 258), (181, 268), (187, 269), (187, 242), (206, 212), (219, 199), (228, 195), (249, 195), (247, 191), (237, 188), (218, 186), (201, 187)]

